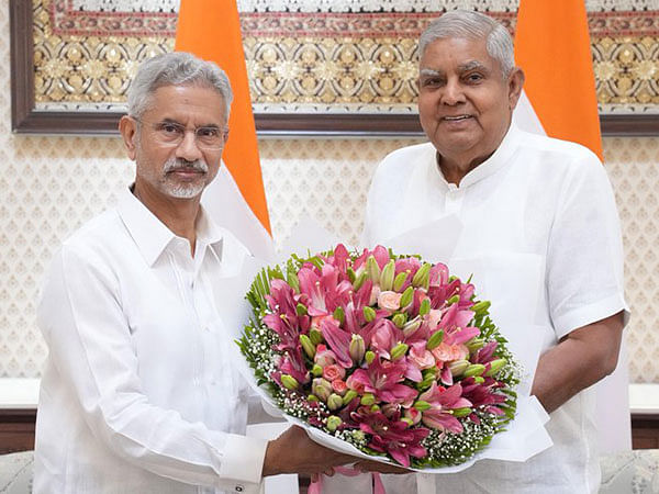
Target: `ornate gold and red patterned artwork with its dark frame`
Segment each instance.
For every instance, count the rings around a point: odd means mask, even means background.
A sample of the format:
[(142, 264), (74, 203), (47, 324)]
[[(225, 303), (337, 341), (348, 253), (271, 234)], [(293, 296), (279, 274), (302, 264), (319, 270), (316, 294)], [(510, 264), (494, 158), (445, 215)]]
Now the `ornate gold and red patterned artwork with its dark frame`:
[[(180, 0), (10, 0), (12, 128), (111, 134), (139, 60), (171, 50)], [(454, 5), (455, 3), (455, 5)], [(514, 33), (518, 0), (447, 0)], [(622, 4), (625, 5), (622, 5)], [(421, 135), (423, 0), (238, 0), (259, 135)], [(588, 0), (604, 135), (659, 135), (659, 10)]]

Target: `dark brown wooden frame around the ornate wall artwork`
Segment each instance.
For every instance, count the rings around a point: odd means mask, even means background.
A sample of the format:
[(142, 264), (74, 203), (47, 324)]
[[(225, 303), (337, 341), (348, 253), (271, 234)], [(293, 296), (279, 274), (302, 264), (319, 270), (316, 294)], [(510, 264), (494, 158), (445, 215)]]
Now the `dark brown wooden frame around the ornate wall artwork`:
[[(33, 8), (30, 0), (10, 0), (11, 128), (18, 134), (109, 135), (118, 133), (122, 113), (40, 111), (35, 105)], [(259, 113), (259, 136), (416, 137), (423, 136), (416, 114)], [(657, 114), (601, 114), (604, 136), (659, 135)]]

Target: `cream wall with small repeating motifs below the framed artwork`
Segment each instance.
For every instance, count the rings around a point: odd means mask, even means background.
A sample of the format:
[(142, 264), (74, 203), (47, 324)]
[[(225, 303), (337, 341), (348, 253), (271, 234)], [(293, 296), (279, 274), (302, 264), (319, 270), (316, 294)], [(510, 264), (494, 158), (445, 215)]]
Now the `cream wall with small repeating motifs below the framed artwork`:
[[(9, 19), (0, 9), (0, 57), (9, 67)], [(44, 269), (60, 240), (112, 203), (131, 181), (132, 165), (115, 138), (19, 136), (10, 131), (10, 76), (0, 74), (0, 377), (38, 377), (46, 348), (35, 325)], [(311, 213), (348, 242), (361, 228), (370, 176), (393, 139), (261, 141), (266, 193), (275, 238)], [(659, 213), (655, 184), (659, 137), (604, 139), (626, 247), (627, 336), (635, 382), (659, 382), (655, 279)]]

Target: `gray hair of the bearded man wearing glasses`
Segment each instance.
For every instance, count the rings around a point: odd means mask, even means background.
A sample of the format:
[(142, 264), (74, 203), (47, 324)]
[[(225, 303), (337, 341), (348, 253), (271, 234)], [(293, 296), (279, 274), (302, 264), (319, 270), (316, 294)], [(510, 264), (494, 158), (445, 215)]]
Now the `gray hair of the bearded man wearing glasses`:
[(215, 89), (226, 105), (226, 119), (233, 100), (224, 70), (213, 61), (185, 52), (166, 53), (139, 65), (129, 89), (129, 115), (139, 119), (158, 88), (164, 86), (201, 86)]

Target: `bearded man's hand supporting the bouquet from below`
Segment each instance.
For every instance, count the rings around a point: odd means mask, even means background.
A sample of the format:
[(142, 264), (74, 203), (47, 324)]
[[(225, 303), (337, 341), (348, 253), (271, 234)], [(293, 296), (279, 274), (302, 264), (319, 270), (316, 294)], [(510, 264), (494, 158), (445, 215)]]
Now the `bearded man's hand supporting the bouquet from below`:
[(292, 426), (268, 442), (263, 476), (281, 473), (332, 474), (333, 468), (353, 463), (357, 458), (339, 453), (312, 441), (303, 428)]

